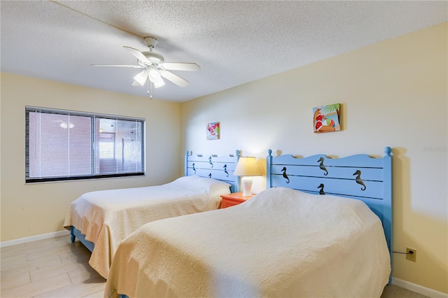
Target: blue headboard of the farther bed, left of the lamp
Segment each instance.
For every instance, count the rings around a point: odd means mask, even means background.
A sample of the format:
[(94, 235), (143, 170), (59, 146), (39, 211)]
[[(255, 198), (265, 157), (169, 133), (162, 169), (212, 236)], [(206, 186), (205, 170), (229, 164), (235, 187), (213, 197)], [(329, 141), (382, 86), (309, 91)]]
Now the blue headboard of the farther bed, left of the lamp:
[(185, 153), (185, 176), (201, 176), (221, 180), (232, 185), (231, 192), (239, 192), (239, 176), (233, 172), (239, 159), (239, 150), (235, 155), (190, 155)]

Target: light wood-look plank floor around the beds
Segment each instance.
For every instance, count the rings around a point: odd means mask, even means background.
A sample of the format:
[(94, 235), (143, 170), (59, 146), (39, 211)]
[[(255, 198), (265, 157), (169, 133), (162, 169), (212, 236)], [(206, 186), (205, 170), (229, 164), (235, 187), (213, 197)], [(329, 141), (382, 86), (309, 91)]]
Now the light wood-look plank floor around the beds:
[[(106, 280), (88, 264), (90, 252), (70, 236), (1, 248), (0, 297), (103, 297)], [(388, 285), (381, 298), (424, 298)]]

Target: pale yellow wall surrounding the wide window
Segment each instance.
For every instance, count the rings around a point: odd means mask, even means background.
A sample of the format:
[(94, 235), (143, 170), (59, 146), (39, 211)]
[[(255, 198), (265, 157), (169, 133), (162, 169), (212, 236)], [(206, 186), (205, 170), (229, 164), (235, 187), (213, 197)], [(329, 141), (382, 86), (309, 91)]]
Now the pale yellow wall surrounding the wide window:
[[(146, 118), (146, 176), (25, 185), (25, 106)], [(177, 103), (1, 73), (1, 241), (62, 230), (84, 192), (179, 177), (179, 119)]]

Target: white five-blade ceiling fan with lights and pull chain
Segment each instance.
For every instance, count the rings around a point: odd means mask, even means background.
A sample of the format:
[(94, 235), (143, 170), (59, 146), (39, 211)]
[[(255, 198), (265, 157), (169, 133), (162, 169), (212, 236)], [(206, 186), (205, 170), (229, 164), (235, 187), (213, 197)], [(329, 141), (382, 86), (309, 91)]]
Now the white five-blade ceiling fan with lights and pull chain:
[[(134, 76), (133, 86), (143, 86), (148, 83), (148, 89), (154, 84), (155, 88), (165, 85), (163, 78), (171, 81), (172, 83), (180, 86), (188, 86), (188, 80), (177, 76), (171, 71), (200, 71), (200, 66), (195, 63), (184, 62), (165, 62), (162, 55), (157, 52), (153, 52), (153, 48), (157, 45), (158, 40), (152, 36), (144, 38), (146, 45), (148, 45), (149, 51), (140, 52), (137, 49), (124, 46), (132, 55), (137, 58), (138, 65), (104, 65), (104, 64), (91, 64), (90, 66), (111, 66), (111, 67), (134, 67), (136, 69), (144, 69), (137, 76)], [(148, 94), (150, 94), (148, 90)]]

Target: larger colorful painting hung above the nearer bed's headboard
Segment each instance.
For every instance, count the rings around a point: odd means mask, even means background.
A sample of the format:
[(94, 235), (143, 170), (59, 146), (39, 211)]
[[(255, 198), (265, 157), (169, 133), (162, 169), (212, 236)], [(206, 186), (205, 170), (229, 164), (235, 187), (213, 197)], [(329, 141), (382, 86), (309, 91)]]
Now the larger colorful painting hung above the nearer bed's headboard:
[(337, 132), (341, 130), (340, 104), (329, 104), (313, 108), (314, 132)]

